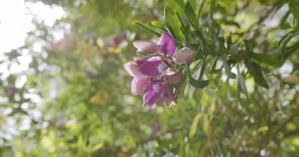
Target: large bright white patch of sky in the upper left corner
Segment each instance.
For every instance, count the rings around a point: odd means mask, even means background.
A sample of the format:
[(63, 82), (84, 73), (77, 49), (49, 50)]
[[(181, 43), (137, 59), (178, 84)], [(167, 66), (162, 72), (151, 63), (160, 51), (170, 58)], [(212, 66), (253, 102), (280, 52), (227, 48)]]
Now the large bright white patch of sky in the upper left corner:
[(38, 20), (44, 20), (47, 26), (53, 26), (56, 19), (66, 16), (59, 6), (50, 7), (42, 2), (25, 0), (0, 0), (0, 55), (25, 44), (27, 33), (35, 29), (31, 24), (31, 13)]

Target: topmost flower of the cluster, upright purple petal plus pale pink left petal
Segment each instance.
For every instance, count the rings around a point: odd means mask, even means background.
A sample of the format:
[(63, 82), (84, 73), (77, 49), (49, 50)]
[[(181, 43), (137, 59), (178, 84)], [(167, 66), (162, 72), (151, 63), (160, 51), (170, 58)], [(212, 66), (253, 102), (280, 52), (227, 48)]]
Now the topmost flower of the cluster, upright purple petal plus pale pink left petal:
[(168, 33), (163, 33), (158, 44), (148, 40), (137, 40), (133, 42), (137, 52), (145, 54), (156, 54), (158, 51), (163, 52), (164, 55), (174, 56), (176, 53), (176, 42), (174, 38)]

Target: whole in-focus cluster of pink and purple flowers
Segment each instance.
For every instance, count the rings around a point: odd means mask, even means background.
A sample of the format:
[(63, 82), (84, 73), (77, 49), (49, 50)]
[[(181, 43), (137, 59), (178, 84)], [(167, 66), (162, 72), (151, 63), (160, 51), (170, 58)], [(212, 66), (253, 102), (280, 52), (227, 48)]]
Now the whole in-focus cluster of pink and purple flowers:
[(140, 95), (145, 91), (143, 101), (151, 107), (162, 95), (168, 106), (177, 104), (177, 95), (171, 84), (181, 81), (179, 72), (173, 64), (185, 64), (192, 60), (196, 53), (186, 47), (176, 52), (176, 42), (168, 33), (163, 33), (158, 43), (147, 40), (133, 42), (137, 52), (149, 55), (148, 59), (137, 58), (124, 64), (125, 70), (133, 78), (131, 92)]

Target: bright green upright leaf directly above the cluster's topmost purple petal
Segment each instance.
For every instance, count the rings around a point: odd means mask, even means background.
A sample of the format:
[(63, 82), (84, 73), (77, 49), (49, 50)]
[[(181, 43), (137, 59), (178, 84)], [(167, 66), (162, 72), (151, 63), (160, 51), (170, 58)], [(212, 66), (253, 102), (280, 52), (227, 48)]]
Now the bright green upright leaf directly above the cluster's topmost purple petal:
[(166, 26), (170, 27), (175, 33), (172, 35), (177, 38), (177, 42), (179, 42), (180, 45), (185, 45), (186, 39), (184, 33), (182, 32), (183, 27), (181, 22), (179, 21), (176, 13), (171, 8), (168, 8), (167, 5), (165, 5), (164, 8), (164, 22), (166, 23)]

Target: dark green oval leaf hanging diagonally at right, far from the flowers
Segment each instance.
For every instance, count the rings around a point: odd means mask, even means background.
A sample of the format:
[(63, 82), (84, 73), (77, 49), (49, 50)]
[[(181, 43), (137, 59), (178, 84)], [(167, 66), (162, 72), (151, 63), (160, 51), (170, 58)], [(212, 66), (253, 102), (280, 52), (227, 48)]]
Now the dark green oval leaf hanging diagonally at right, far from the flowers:
[(245, 65), (248, 69), (248, 73), (254, 78), (254, 81), (257, 84), (269, 89), (269, 85), (263, 76), (260, 65), (249, 59), (245, 60)]

